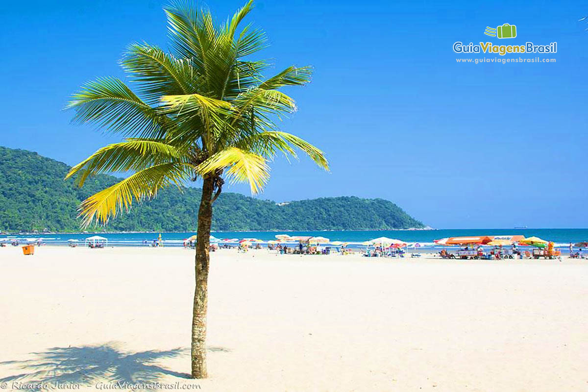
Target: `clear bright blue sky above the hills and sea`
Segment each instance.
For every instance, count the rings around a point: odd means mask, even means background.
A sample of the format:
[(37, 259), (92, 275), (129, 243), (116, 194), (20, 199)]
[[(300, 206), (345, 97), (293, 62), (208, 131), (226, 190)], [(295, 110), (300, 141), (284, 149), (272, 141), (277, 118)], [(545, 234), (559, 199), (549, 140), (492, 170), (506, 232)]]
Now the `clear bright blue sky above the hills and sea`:
[[(242, 1), (208, 1), (219, 19)], [(166, 44), (163, 1), (61, 1), (2, 7), (0, 144), (70, 165), (118, 141), (72, 125), (68, 96), (98, 76), (123, 77), (133, 41)], [(313, 65), (289, 93), (299, 111), (283, 129), (325, 150), (273, 163), (258, 197), (382, 197), (428, 225), (586, 227), (588, 7), (569, 1), (258, 1), (249, 21), (276, 71)], [(490, 38), (486, 26), (517, 26)], [(456, 41), (557, 41), (556, 63), (464, 64)], [(508, 41), (508, 42), (507, 42)], [(522, 56), (532, 57), (532, 56)], [(248, 194), (245, 186), (228, 190)]]

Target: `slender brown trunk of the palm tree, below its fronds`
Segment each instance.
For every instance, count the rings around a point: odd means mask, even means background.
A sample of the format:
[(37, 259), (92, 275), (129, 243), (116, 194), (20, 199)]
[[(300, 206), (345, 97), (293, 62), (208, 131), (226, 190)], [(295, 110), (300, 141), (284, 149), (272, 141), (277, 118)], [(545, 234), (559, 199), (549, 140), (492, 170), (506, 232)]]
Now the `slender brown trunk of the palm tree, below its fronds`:
[(208, 266), (212, 225), (212, 178), (205, 178), (198, 210), (196, 239), (196, 289), (192, 314), (192, 377), (206, 378), (206, 309), (208, 308)]

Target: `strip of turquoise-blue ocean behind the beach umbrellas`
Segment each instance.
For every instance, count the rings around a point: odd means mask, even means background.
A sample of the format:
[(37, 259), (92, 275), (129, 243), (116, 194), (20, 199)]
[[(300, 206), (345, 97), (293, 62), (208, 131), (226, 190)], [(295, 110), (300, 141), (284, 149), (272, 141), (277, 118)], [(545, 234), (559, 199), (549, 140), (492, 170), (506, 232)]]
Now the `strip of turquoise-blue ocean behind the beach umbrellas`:
[[(313, 232), (213, 232), (218, 239), (228, 238), (257, 238), (268, 241), (275, 239), (276, 234), (287, 233), (291, 236), (322, 236), (332, 241), (363, 242), (376, 237), (390, 237), (409, 243), (419, 243), (423, 248), (435, 247), (433, 240), (456, 236), (505, 236), (522, 234), (536, 236), (544, 240), (553, 241), (558, 247), (567, 247), (569, 243), (588, 241), (588, 229), (439, 229), (439, 230), (363, 230), (363, 231), (313, 231)], [(161, 236), (165, 246), (182, 246), (183, 239), (196, 234), (165, 233)], [(41, 239), (46, 244), (66, 244), (69, 239), (76, 239), (83, 243), (86, 237), (93, 233), (82, 234), (19, 234), (0, 236), (1, 239), (19, 239), (24, 243), (31, 239)], [(98, 233), (108, 239), (109, 246), (141, 246), (148, 245), (157, 239), (156, 233)]]

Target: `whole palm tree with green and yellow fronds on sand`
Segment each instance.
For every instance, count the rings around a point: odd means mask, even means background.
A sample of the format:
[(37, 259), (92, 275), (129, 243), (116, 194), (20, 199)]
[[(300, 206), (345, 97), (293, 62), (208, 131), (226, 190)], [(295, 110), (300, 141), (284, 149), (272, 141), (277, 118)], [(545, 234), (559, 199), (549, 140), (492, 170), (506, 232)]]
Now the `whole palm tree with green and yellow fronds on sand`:
[[(132, 172), (121, 182), (83, 200), (82, 225), (106, 225), (132, 203), (152, 199), (167, 186), (202, 180), (196, 241), (196, 287), (192, 320), (192, 377), (206, 377), (209, 235), (212, 204), (225, 179), (249, 183), (258, 193), (269, 179), (268, 163), (277, 153), (306, 153), (328, 170), (323, 152), (305, 140), (281, 132), (279, 121), (296, 110), (279, 91), (310, 81), (308, 66), (290, 66), (264, 78), (268, 62), (251, 55), (266, 47), (265, 33), (252, 25), (239, 28), (252, 8), (250, 0), (232, 18), (215, 25), (210, 12), (177, 3), (164, 9), (171, 49), (133, 43), (121, 61), (135, 94), (116, 78), (82, 86), (67, 108), (76, 122), (121, 133), (125, 140), (105, 146), (69, 171), (82, 186), (88, 176)], [(239, 30), (239, 31), (238, 31)]]

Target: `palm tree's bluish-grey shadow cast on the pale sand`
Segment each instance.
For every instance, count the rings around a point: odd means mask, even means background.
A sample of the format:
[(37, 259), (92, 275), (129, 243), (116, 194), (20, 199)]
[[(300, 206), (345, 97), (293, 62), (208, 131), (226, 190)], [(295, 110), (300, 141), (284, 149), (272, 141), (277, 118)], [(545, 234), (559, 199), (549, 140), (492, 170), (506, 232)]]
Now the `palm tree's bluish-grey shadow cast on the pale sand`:
[[(229, 351), (222, 347), (210, 347), (210, 351)], [(189, 378), (159, 366), (158, 360), (189, 355), (188, 349), (168, 351), (141, 351), (131, 353), (121, 349), (120, 344), (101, 346), (54, 347), (43, 353), (31, 353), (32, 359), (0, 362), (2, 366), (16, 367), (24, 373), (0, 378), (0, 383), (20, 382), (26, 384), (78, 384), (91, 385), (96, 380), (113, 383), (153, 383), (162, 376)], [(25, 387), (38, 390), (38, 387)]]

